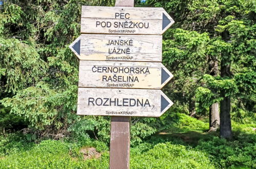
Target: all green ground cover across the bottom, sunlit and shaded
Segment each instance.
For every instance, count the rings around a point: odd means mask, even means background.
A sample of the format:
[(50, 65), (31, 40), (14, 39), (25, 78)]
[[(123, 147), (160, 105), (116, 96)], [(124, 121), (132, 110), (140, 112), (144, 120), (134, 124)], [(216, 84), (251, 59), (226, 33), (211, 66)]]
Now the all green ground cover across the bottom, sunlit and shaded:
[[(207, 133), (208, 124), (184, 114), (170, 129), (131, 147), (131, 168), (256, 168), (253, 124), (234, 123), (234, 139)], [(0, 136), (0, 168), (108, 168), (109, 147), (93, 139), (82, 142), (44, 140), (36, 144), (22, 134)], [(82, 147), (102, 156), (84, 160)]]

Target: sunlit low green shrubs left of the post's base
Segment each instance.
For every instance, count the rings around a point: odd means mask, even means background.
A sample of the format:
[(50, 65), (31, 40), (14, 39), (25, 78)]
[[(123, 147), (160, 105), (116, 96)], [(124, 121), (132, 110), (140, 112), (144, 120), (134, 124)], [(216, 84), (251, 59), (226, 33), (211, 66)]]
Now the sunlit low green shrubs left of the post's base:
[(83, 160), (81, 154), (72, 154), (76, 147), (63, 141), (45, 140), (30, 150), (0, 158), (0, 168), (108, 168), (107, 152), (100, 159)]

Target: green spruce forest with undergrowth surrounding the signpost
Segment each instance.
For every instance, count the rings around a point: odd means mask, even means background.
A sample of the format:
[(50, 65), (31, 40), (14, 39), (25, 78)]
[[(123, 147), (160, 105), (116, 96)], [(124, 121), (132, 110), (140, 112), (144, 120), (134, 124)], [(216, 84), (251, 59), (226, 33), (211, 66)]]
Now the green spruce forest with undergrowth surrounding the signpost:
[[(82, 5), (114, 3), (0, 1), (1, 168), (108, 168), (110, 117), (76, 115), (78, 59), (68, 46)], [(163, 35), (174, 75), (163, 91), (174, 105), (160, 118), (132, 117), (131, 167), (256, 167), (256, 2), (135, 7), (163, 7), (175, 20)]]

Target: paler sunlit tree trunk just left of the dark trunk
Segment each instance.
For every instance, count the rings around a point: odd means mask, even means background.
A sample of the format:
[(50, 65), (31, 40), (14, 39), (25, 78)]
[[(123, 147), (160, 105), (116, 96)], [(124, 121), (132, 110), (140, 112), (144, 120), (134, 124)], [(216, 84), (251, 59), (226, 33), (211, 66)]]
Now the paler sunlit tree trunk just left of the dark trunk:
[(216, 131), (220, 126), (220, 113), (218, 102), (211, 104), (209, 113), (209, 132)]

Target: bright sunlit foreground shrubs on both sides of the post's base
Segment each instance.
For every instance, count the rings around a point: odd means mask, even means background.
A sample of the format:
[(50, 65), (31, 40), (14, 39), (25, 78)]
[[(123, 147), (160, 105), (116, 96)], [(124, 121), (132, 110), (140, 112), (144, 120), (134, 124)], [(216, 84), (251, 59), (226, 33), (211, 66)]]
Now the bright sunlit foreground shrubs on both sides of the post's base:
[[(108, 168), (108, 151), (103, 151), (100, 159), (83, 160), (78, 150), (74, 143), (45, 140), (3, 156), (0, 168)], [(131, 168), (213, 168), (205, 153), (171, 142), (156, 144), (144, 152), (141, 147), (132, 148), (130, 165)]]

